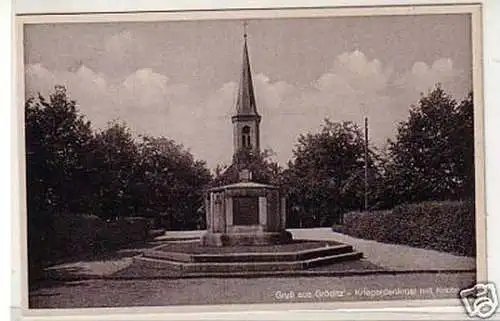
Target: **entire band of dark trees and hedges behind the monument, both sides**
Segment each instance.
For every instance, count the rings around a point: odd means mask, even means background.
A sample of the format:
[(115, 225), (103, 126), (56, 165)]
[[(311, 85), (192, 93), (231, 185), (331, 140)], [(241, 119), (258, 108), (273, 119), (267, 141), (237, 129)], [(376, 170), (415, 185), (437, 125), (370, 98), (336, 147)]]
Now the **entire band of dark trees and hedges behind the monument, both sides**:
[[(427, 201), (472, 202), (473, 109), (472, 94), (456, 102), (437, 86), (411, 107), (386, 154), (369, 145), (369, 209)], [(110, 232), (111, 227), (101, 234), (100, 227), (89, 227), (78, 236), (77, 225), (93, 224), (83, 217), (114, 224), (115, 231), (128, 225), (111, 222), (133, 216), (151, 219), (153, 228), (204, 228), (203, 190), (237, 182), (242, 169), (249, 169), (255, 182), (281, 187), (289, 227), (330, 226), (342, 223), (343, 213), (363, 209), (365, 141), (351, 122), (325, 120), (318, 132), (300, 135), (287, 169), (271, 160), (270, 151), (241, 150), (230, 166), (219, 165), (212, 177), (205, 162), (170, 139), (135, 139), (120, 123), (93, 132), (64, 87), (56, 87), (48, 99), (28, 99), (25, 115), (29, 263), (35, 270), (47, 258), (93, 251), (99, 248), (95, 244), (111, 242), (109, 235), (120, 234)], [(474, 240), (469, 230), (473, 207), (469, 211), (465, 203), (424, 204), (397, 207), (391, 219), (363, 216), (360, 226), (349, 221), (346, 229), (362, 237), (371, 231), (371, 237), (387, 242), (429, 242), (437, 249), (472, 253), (467, 242)], [(401, 213), (416, 214), (410, 220)], [(378, 217), (384, 215), (388, 214)], [(444, 223), (436, 225), (438, 218)], [(419, 224), (431, 226), (437, 234), (408, 234), (414, 233), (409, 229), (420, 230), (415, 228)], [(66, 229), (74, 235), (61, 234)], [(92, 229), (95, 235), (83, 232)], [(101, 237), (96, 233), (108, 241), (89, 241)], [(463, 248), (454, 243), (454, 233), (465, 240)]]

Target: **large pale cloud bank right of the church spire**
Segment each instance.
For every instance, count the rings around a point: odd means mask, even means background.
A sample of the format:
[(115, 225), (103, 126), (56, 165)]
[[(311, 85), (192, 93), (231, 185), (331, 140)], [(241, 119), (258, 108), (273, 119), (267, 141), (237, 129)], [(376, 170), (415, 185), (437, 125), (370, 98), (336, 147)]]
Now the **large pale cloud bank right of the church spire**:
[[(361, 125), (364, 116), (368, 116), (370, 139), (382, 147), (394, 136), (397, 123), (407, 119), (408, 108), (417, 102), (420, 92), (442, 83), (445, 90), (457, 98), (465, 95), (464, 85), (457, 84), (463, 82), (461, 71), (453, 67), (450, 59), (436, 60), (430, 66), (416, 62), (411, 70), (398, 75), (360, 51), (337, 56), (332, 68), (319, 75), (308, 88), (272, 83), (262, 76), (258, 79), (266, 80), (256, 81), (264, 87), (257, 90), (257, 95), (264, 96), (260, 101), (272, 101), (271, 110), (278, 111), (269, 113), (263, 120), (263, 146), (275, 150), (281, 163), (291, 157), (296, 137), (316, 131), (325, 117)], [(272, 90), (276, 88), (286, 90), (277, 94)]]

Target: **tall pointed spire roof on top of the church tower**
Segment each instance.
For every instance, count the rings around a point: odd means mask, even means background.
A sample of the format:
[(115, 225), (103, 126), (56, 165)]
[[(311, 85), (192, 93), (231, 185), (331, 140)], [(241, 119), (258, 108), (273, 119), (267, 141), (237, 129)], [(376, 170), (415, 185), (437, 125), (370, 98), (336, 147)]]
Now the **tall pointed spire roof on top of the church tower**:
[(236, 99), (236, 116), (255, 115), (258, 116), (253, 89), (252, 71), (250, 58), (248, 56), (247, 35), (245, 33), (243, 45), (243, 61), (241, 65), (240, 87)]

